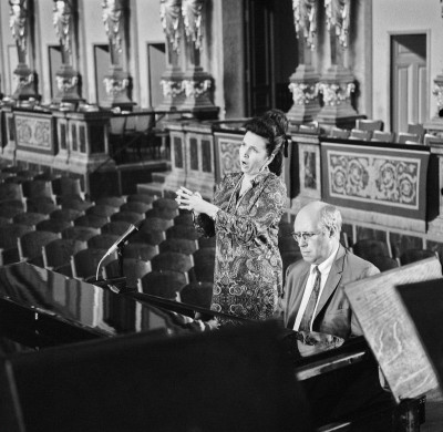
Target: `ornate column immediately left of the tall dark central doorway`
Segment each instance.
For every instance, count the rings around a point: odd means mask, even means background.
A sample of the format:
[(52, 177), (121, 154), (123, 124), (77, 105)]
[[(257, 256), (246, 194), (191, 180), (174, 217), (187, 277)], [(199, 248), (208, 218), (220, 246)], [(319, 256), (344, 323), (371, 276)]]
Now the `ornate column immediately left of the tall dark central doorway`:
[(214, 80), (200, 65), (203, 4), (204, 0), (182, 0), (186, 47), (186, 72), (183, 80), (186, 99), (183, 107), (216, 115), (217, 107), (212, 102)]

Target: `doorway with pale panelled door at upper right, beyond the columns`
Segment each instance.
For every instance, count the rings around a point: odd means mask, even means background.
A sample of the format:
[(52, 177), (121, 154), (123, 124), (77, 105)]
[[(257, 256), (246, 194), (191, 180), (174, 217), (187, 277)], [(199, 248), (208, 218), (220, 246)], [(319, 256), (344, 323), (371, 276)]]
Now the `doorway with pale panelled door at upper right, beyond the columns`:
[(427, 120), (426, 44), (425, 33), (391, 37), (391, 128), (395, 133)]

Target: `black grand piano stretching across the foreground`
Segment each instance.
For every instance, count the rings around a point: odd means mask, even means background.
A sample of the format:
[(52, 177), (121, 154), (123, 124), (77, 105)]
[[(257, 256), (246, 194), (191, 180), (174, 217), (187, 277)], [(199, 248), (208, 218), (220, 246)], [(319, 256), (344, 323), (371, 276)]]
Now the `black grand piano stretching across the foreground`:
[(423, 400), (409, 423), (389, 395), (332, 423), (316, 412), (317, 382), (377, 371), (363, 338), (300, 358), (275, 322), (207, 331), (195, 313), (213, 311), (115, 286), (0, 268), (4, 430), (420, 430)]

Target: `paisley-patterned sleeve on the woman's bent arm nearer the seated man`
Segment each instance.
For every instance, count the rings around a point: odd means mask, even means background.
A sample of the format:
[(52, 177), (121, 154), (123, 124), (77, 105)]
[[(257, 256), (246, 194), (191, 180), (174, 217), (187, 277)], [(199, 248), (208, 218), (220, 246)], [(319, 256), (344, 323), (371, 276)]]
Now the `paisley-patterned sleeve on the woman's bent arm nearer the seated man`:
[(266, 181), (253, 210), (248, 216), (238, 216), (223, 209), (217, 212), (216, 228), (226, 233), (234, 233), (243, 244), (253, 241), (285, 212), (286, 186), (278, 177)]

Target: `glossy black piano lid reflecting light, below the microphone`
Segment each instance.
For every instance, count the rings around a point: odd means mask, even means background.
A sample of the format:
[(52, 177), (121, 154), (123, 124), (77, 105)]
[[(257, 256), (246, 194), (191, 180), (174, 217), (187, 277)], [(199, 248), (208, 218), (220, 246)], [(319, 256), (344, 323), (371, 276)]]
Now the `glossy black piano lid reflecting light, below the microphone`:
[(168, 335), (203, 330), (189, 317), (28, 263), (0, 268), (0, 301), (19, 305), (99, 337), (155, 329), (164, 329)]

